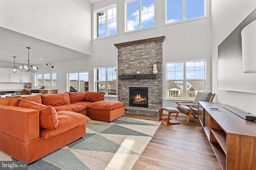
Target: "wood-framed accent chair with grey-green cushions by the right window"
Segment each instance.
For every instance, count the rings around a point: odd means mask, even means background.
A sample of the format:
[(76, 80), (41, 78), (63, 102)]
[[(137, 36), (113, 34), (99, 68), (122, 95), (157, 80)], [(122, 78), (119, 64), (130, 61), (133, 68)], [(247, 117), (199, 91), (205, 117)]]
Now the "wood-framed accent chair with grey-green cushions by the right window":
[[(180, 113), (183, 113), (188, 116), (188, 120), (186, 122), (186, 125), (188, 125), (188, 121), (192, 116), (196, 117), (198, 115), (198, 102), (212, 102), (214, 99), (215, 94), (212, 94), (211, 92), (197, 92), (194, 101), (192, 102), (175, 102), (178, 104), (177, 109), (180, 111)], [(181, 105), (181, 103), (191, 103), (186, 104), (186, 106)], [(177, 118), (179, 113), (176, 114), (175, 119)]]

